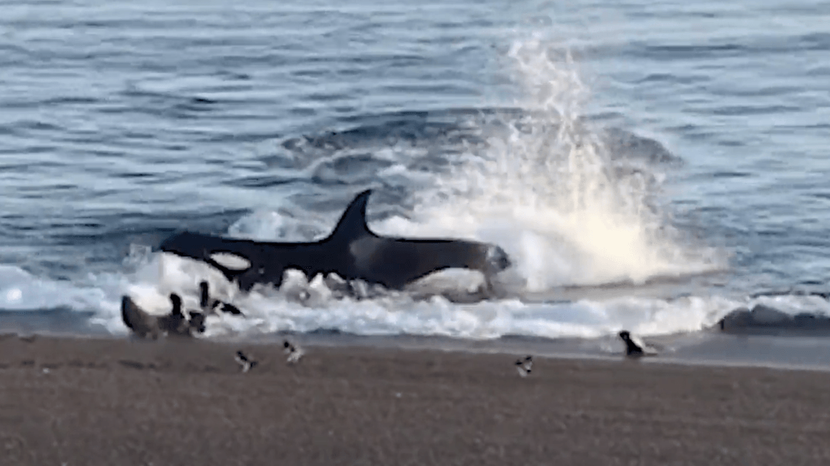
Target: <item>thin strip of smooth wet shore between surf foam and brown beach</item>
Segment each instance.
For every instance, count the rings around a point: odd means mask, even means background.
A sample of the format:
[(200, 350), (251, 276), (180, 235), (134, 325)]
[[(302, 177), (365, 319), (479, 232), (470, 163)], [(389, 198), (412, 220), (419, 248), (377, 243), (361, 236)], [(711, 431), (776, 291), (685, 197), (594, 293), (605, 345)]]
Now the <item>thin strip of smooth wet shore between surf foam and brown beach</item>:
[[(131, 340), (132, 335), (109, 333), (0, 333), (5, 337), (36, 337), (85, 341)], [(175, 338), (174, 338), (175, 339)], [(594, 338), (507, 336), (468, 339), (423, 335), (356, 335), (352, 333), (271, 333), (245, 336), (195, 337), (199, 344), (261, 346), (284, 340), (302, 346), (324, 348), (367, 348), (377, 350), (443, 351), (471, 354), (503, 354), (546, 357), (566, 361), (617, 362), (626, 359), (617, 336)], [(647, 337), (659, 349), (657, 357), (642, 364), (669, 364), (704, 367), (757, 367), (783, 371), (830, 371), (830, 338), (821, 335), (734, 335), (710, 330)]]

